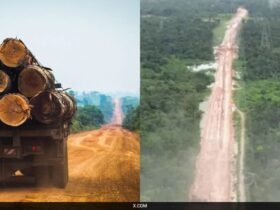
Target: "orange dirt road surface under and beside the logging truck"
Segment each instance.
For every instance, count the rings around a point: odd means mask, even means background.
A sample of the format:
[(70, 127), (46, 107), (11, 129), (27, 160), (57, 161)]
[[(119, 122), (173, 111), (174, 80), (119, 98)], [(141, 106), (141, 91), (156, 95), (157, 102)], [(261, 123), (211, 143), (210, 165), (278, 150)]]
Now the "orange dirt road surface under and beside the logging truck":
[(139, 136), (120, 126), (71, 135), (63, 189), (3, 188), (0, 201), (139, 201)]

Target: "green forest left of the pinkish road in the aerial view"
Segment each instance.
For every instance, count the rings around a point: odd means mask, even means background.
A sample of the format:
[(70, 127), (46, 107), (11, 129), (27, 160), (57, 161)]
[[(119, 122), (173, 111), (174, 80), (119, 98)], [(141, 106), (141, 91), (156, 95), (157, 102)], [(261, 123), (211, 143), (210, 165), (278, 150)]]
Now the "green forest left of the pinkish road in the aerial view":
[[(199, 143), (199, 103), (213, 78), (218, 1), (141, 1), (141, 199), (186, 201)], [(210, 8), (210, 9), (209, 9)], [(217, 9), (218, 10), (218, 9)]]

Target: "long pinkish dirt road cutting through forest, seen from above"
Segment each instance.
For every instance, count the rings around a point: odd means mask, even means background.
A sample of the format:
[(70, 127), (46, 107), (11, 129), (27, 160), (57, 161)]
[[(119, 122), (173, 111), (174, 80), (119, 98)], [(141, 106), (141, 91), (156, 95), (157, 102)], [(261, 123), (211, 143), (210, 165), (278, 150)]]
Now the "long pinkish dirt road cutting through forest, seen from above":
[(246, 16), (247, 10), (237, 10), (228, 23), (223, 42), (215, 52), (218, 68), (204, 115), (200, 152), (189, 194), (192, 201), (227, 202), (235, 199), (232, 65), (236, 57), (237, 33)]

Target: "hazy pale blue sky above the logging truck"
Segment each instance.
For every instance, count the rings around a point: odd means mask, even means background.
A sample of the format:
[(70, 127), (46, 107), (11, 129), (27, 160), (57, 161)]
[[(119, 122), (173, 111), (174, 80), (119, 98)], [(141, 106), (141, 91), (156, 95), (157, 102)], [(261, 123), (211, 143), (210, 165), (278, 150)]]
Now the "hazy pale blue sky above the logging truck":
[(139, 0), (0, 2), (0, 40), (22, 39), (64, 88), (139, 92)]

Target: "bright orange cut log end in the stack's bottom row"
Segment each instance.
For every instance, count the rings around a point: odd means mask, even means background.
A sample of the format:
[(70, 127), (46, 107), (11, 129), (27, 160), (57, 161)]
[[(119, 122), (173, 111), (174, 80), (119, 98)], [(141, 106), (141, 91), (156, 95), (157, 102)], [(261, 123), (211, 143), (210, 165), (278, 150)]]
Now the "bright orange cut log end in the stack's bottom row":
[(30, 117), (28, 99), (21, 94), (7, 94), (0, 100), (0, 120), (17, 127)]

